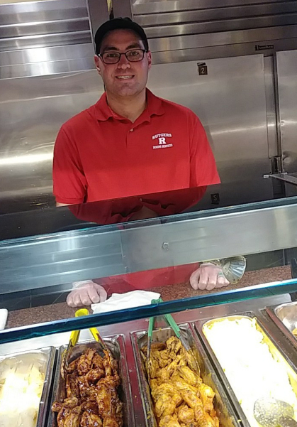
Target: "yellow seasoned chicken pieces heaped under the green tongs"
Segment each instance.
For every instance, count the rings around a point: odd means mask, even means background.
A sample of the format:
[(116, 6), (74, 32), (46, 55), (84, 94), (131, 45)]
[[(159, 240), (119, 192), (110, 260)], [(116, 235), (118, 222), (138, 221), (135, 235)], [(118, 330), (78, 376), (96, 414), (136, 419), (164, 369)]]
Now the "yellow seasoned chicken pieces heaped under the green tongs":
[(152, 344), (147, 370), (159, 427), (219, 427), (215, 393), (188, 366), (178, 338)]

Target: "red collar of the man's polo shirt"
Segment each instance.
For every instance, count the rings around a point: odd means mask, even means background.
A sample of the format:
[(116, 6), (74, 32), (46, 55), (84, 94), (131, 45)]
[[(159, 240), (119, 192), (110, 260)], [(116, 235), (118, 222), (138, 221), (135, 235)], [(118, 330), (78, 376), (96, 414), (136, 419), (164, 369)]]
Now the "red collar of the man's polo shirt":
[[(162, 116), (164, 114), (164, 107), (162, 103), (162, 99), (156, 97), (150, 90), (146, 90), (147, 96), (147, 107), (145, 111), (138, 117), (137, 121), (141, 118), (141, 121), (150, 121), (150, 117), (154, 114), (157, 116)], [(107, 104), (106, 92), (104, 92), (99, 101), (94, 105), (96, 119), (99, 121), (107, 121), (111, 117), (116, 120), (127, 120), (125, 117), (121, 117), (120, 115), (113, 112), (113, 110)]]

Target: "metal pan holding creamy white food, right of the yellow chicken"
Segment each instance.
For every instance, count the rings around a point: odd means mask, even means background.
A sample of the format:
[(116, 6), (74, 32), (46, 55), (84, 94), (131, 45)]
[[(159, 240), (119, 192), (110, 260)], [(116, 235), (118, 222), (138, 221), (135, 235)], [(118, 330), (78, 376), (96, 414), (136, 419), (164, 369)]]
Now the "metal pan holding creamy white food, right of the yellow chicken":
[[(237, 397), (235, 396), (234, 391), (232, 390), (232, 387), (225, 375), (225, 372), (223, 368), (220, 366), (220, 362), (218, 362), (217, 357), (215, 356), (215, 353), (213, 352), (213, 349), (211, 347), (211, 344), (208, 342), (208, 339), (206, 338), (206, 335), (203, 333), (203, 329), (213, 325), (215, 322), (220, 322), (226, 319), (229, 320), (240, 320), (242, 318), (247, 318), (252, 321), (253, 318), (256, 318), (256, 328), (259, 330), (259, 332), (262, 333), (264, 340), (263, 342), (268, 345), (269, 351), (271, 352), (271, 355), (274, 357), (274, 360), (277, 362), (284, 364), (286, 367), (286, 372), (288, 374), (288, 379), (291, 383), (291, 387), (294, 391), (294, 393), (297, 396), (297, 371), (296, 368), (291, 364), (291, 361), (286, 357), (284, 352), (281, 351), (280, 347), (276, 344), (276, 341), (269, 335), (267, 330), (265, 330), (264, 326), (261, 324), (259, 319), (257, 318), (257, 315), (255, 315), (252, 312), (248, 313), (242, 313), (240, 315), (227, 315), (223, 318), (214, 318), (211, 320), (198, 320), (195, 323), (195, 327), (198, 330), (199, 335), (201, 335), (201, 338), (203, 340), (204, 345), (206, 346), (206, 349), (208, 351), (208, 354), (210, 355), (211, 359), (213, 360), (213, 364), (215, 365), (215, 369), (217, 370), (220, 379), (222, 380), (225, 389), (228, 391), (228, 394), (230, 396), (230, 399), (232, 401), (232, 404), (235, 406), (235, 410), (237, 411), (237, 414), (240, 416), (242, 423), (250, 427), (249, 421), (247, 421), (247, 417), (245, 416), (244, 411), (242, 410), (242, 407), (240, 405), (240, 402), (237, 400)], [(232, 358), (232, 354), (230, 354), (230, 357)], [(240, 373), (239, 373), (240, 374)], [(256, 384), (255, 384), (256, 387)]]

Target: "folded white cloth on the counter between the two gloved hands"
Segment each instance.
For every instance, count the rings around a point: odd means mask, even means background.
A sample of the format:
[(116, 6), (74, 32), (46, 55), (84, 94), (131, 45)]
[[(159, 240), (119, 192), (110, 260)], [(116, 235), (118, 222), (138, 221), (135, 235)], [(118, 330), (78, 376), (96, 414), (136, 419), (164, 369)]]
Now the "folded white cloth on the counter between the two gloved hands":
[(123, 310), (124, 308), (148, 306), (152, 300), (157, 300), (160, 294), (150, 291), (131, 291), (113, 293), (111, 298), (103, 303), (92, 304), (93, 313), (107, 313), (108, 311)]

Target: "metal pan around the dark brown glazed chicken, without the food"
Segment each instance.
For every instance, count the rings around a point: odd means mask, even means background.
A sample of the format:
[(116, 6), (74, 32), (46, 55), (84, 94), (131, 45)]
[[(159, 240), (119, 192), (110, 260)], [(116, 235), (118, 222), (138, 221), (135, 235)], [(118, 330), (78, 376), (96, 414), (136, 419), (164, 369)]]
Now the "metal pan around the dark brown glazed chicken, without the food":
[[(131, 399), (128, 367), (125, 357), (125, 345), (123, 335), (116, 335), (111, 338), (103, 338), (108, 349), (111, 351), (113, 357), (118, 360), (118, 371), (121, 377), (121, 385), (118, 387), (118, 396), (123, 401), (123, 421), (124, 427), (133, 427), (134, 426), (134, 416), (133, 416), (133, 403)], [(66, 397), (66, 387), (65, 379), (61, 377), (61, 362), (62, 362), (62, 353), (67, 348), (67, 345), (62, 345), (59, 348), (58, 358), (57, 358), (57, 370), (55, 373), (55, 381), (52, 389), (52, 399), (50, 402), (50, 414), (48, 416), (47, 427), (57, 427), (57, 414), (52, 412), (52, 404), (55, 401), (62, 402)], [(81, 342), (74, 346), (72, 349), (71, 357), (69, 358), (69, 363), (72, 360), (77, 359), (81, 356), (88, 348), (94, 348), (96, 350), (102, 350), (102, 347), (99, 342), (96, 341), (85, 341)]]

